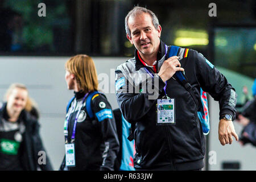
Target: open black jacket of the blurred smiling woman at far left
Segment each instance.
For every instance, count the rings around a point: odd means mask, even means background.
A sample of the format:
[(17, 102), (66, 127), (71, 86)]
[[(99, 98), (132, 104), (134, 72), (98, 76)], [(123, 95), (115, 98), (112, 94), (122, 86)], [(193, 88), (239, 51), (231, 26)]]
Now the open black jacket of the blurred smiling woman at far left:
[[(6, 115), (5, 103), (0, 108), (0, 128), (3, 126), (3, 122), (5, 122), (4, 120), (6, 120)], [(40, 125), (37, 119), (27, 111), (23, 110), (22, 113), (20, 113), (17, 122), (22, 123), (22, 126), (24, 127), (22, 131), (22, 141), (20, 142), (18, 152), (18, 160), (21, 169), (24, 171), (36, 171), (39, 169), (52, 171), (51, 162), (39, 134)], [(0, 133), (3, 132), (5, 131), (0, 129)], [(1, 136), (2, 134), (0, 134), (0, 141), (3, 139)]]

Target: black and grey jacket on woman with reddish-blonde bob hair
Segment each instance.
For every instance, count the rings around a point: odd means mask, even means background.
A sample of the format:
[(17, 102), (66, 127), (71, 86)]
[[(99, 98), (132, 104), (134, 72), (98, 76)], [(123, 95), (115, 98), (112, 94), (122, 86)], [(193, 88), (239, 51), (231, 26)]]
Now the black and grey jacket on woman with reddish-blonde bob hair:
[[(70, 143), (75, 118), (81, 107), (75, 134), (76, 166), (68, 167), (68, 170), (113, 170), (119, 151), (119, 141), (112, 107), (104, 94), (96, 94), (90, 102), (94, 115), (91, 119), (86, 111), (86, 100), (82, 105), (84, 96), (84, 93), (75, 93), (75, 99), (66, 115), (66, 118), (70, 115), (68, 123), (68, 142)], [(65, 157), (60, 170), (65, 170), (64, 168)]]

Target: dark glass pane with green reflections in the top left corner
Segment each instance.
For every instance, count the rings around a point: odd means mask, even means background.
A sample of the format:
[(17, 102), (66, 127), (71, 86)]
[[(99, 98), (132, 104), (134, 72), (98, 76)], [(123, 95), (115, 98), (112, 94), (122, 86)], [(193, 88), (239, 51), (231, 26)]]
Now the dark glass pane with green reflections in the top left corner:
[(45, 17), (38, 15), (40, 0), (1, 2), (1, 53), (47, 55), (73, 52), (70, 1), (43, 1)]

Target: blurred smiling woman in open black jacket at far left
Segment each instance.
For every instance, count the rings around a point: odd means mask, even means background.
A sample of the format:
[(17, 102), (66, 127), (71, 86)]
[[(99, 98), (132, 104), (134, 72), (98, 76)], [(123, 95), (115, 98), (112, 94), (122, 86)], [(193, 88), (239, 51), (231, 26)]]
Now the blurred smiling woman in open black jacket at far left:
[[(0, 170), (52, 170), (47, 155), (45, 161), (39, 159), (39, 152), (46, 154), (46, 150), (39, 135), (38, 118), (30, 113), (36, 107), (26, 86), (11, 84), (5, 99), (7, 102), (0, 109)], [(36, 113), (39, 116), (37, 110)]]

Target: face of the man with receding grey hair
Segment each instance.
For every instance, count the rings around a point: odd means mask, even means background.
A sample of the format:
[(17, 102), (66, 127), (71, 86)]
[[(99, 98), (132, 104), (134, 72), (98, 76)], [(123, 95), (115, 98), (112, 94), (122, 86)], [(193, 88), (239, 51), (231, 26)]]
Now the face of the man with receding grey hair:
[(161, 26), (154, 27), (150, 14), (142, 13), (135, 17), (129, 17), (128, 26), (131, 37), (127, 39), (141, 53), (141, 56), (151, 56), (158, 52), (160, 45)]

